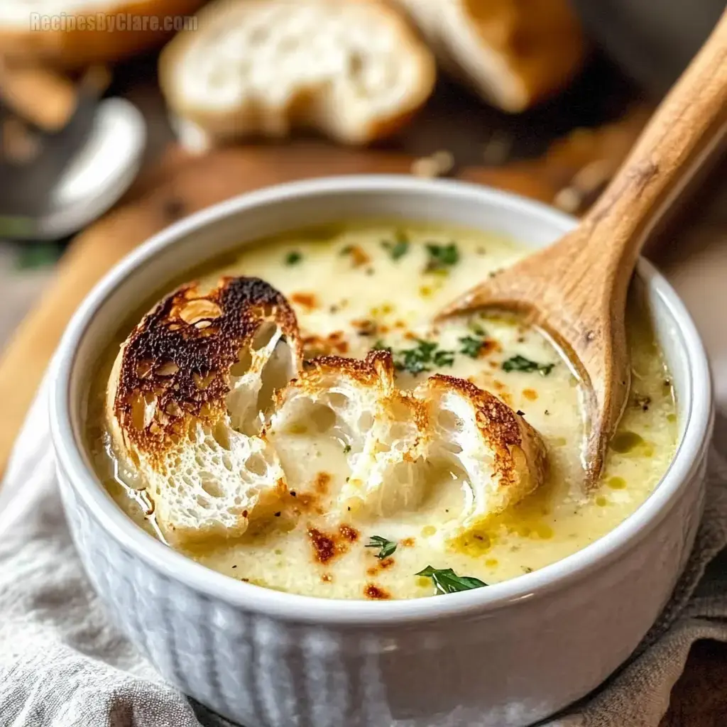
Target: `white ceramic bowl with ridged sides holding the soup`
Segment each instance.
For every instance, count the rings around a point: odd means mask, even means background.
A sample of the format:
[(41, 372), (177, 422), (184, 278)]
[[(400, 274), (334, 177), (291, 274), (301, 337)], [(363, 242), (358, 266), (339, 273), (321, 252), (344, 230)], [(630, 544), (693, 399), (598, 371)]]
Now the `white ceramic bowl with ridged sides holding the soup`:
[(341, 177), (247, 194), (164, 230), (76, 313), (55, 358), (52, 436), (63, 502), (111, 618), (186, 694), (246, 727), (519, 727), (598, 686), (656, 619), (694, 542), (712, 425), (702, 343), (641, 261), (678, 396), (680, 445), (654, 494), (579, 553), (481, 590), (329, 601), (222, 576), (135, 526), (83, 445), (89, 380), (119, 321), (169, 280), (245, 241), (313, 223), (401, 217), (506, 233), (538, 247), (574, 220), (451, 181)]

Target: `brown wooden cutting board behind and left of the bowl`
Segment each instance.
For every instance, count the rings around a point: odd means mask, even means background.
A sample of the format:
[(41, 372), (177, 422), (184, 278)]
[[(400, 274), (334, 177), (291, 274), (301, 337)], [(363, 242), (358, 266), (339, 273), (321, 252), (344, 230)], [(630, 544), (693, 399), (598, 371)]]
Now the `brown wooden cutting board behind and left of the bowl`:
[[(4, 351), (0, 474), (73, 311), (100, 277), (135, 246), (188, 214), (249, 190), (329, 174), (408, 174), (412, 161), (403, 153), (318, 143), (231, 148), (203, 157), (169, 148), (115, 210), (71, 242), (57, 275)], [(545, 178), (542, 169), (542, 161), (521, 162), (503, 168), (470, 167), (457, 176), (551, 201), (561, 178), (572, 170), (549, 167)]]

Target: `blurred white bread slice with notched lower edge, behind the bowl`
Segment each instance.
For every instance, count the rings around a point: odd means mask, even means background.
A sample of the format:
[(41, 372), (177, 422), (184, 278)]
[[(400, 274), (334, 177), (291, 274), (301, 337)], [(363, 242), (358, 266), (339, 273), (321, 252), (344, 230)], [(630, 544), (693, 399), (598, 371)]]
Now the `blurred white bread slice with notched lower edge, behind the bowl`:
[(188, 148), (310, 127), (350, 144), (395, 132), (435, 64), (375, 0), (217, 0), (164, 49), (162, 91)]

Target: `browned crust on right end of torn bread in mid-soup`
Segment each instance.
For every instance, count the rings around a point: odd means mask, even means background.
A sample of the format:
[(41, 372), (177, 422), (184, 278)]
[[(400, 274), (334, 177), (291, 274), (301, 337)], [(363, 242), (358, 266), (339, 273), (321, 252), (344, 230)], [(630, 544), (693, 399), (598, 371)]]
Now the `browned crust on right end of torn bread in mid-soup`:
[[(547, 473), (547, 449), (537, 430), (520, 414), (465, 379), (435, 374), (426, 385), (430, 390), (457, 391), (470, 401), (478, 430), (495, 453), (494, 469), (502, 486), (522, 486), (524, 497), (542, 485)], [(519, 461), (518, 453), (524, 462)]]

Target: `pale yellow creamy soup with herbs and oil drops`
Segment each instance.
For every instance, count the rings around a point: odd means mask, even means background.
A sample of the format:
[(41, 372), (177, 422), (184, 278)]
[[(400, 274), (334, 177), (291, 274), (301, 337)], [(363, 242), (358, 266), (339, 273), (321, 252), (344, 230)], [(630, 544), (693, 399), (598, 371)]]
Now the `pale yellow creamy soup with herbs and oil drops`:
[[(447, 481), (414, 509), (342, 517), (334, 502), (350, 475), (346, 444), (301, 427), (300, 439), (281, 454), (295, 516), (235, 542), (196, 547), (190, 558), (290, 593), (418, 598), (449, 590), (453, 577), (451, 588), (458, 590), (542, 568), (633, 513), (667, 469), (677, 438), (670, 376), (640, 305), (630, 301), (627, 317), (630, 399), (592, 489), (585, 488), (582, 466), (582, 389), (551, 342), (513, 318), (477, 314), (432, 324), (446, 303), (523, 254), (526, 249), (507, 239), (473, 230), (362, 223), (244, 246), (205, 273), (210, 284), (220, 274), (257, 276), (284, 293), (297, 313), (307, 357), (363, 358), (371, 349), (390, 348), (399, 387), (440, 372), (494, 393), (540, 433), (549, 470), (534, 494), (451, 537), (467, 491), (455, 473), (443, 473)], [(127, 333), (120, 332), (121, 339)], [(159, 535), (153, 516), (144, 515), (148, 495), (119, 476), (105, 432), (110, 366), (94, 382), (89, 406), (95, 467), (119, 506)]]

